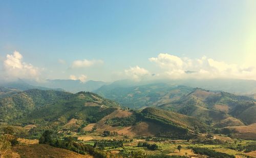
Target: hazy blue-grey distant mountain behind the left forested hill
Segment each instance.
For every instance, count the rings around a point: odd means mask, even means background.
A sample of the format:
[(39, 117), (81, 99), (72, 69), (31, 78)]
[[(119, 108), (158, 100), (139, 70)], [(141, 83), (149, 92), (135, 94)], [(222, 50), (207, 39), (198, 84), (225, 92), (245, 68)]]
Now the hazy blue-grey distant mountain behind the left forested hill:
[(46, 80), (45, 82), (32, 82), (30, 81), (32, 85), (37, 86), (43, 86), (43, 87), (49, 87), (49, 88), (62, 88), (65, 89), (65, 91), (77, 93), (80, 91), (86, 91), (86, 92), (92, 92), (99, 87), (106, 85), (108, 83), (102, 82), (102, 81), (87, 81), (87, 82), (81, 82), (80, 80)]

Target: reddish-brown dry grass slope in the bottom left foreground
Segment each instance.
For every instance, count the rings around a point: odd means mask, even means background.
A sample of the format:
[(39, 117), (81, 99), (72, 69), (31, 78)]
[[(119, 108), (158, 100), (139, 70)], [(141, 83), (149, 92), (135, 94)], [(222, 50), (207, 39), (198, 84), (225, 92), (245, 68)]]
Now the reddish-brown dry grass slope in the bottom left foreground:
[[(13, 148), (16, 151), (16, 147)], [(33, 144), (19, 146), (17, 149), (20, 157), (74, 157), (74, 158), (89, 158), (91, 155), (81, 155), (70, 150), (55, 148), (45, 144)]]

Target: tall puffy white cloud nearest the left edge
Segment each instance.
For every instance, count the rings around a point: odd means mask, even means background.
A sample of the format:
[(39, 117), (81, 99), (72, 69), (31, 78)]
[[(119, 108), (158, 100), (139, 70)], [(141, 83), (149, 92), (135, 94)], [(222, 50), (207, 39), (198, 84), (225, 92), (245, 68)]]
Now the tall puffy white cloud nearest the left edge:
[(39, 80), (40, 71), (38, 67), (23, 62), (23, 56), (15, 51), (7, 54), (4, 60), (4, 73), (6, 78), (25, 78)]

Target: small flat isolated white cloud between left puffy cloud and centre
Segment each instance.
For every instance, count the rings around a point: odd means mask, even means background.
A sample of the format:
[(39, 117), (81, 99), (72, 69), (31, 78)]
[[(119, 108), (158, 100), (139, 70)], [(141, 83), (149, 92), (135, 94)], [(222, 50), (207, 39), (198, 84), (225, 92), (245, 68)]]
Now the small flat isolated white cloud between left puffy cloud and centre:
[(90, 67), (93, 65), (102, 65), (104, 62), (102, 60), (75, 60), (73, 61), (71, 67), (72, 68), (80, 68), (80, 67)]

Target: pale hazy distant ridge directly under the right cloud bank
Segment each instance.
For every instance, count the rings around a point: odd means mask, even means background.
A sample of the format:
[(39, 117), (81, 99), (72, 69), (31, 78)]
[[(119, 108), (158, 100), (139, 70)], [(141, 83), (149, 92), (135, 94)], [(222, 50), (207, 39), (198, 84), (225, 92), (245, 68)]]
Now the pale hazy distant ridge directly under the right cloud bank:
[(100, 91), (110, 91), (117, 87), (132, 87), (147, 84), (165, 83), (171, 86), (185, 85), (189, 87), (199, 87), (210, 91), (224, 91), (238, 95), (256, 94), (255, 80), (242, 79), (159, 79), (159, 80), (118, 80), (111, 84), (100, 87)]

